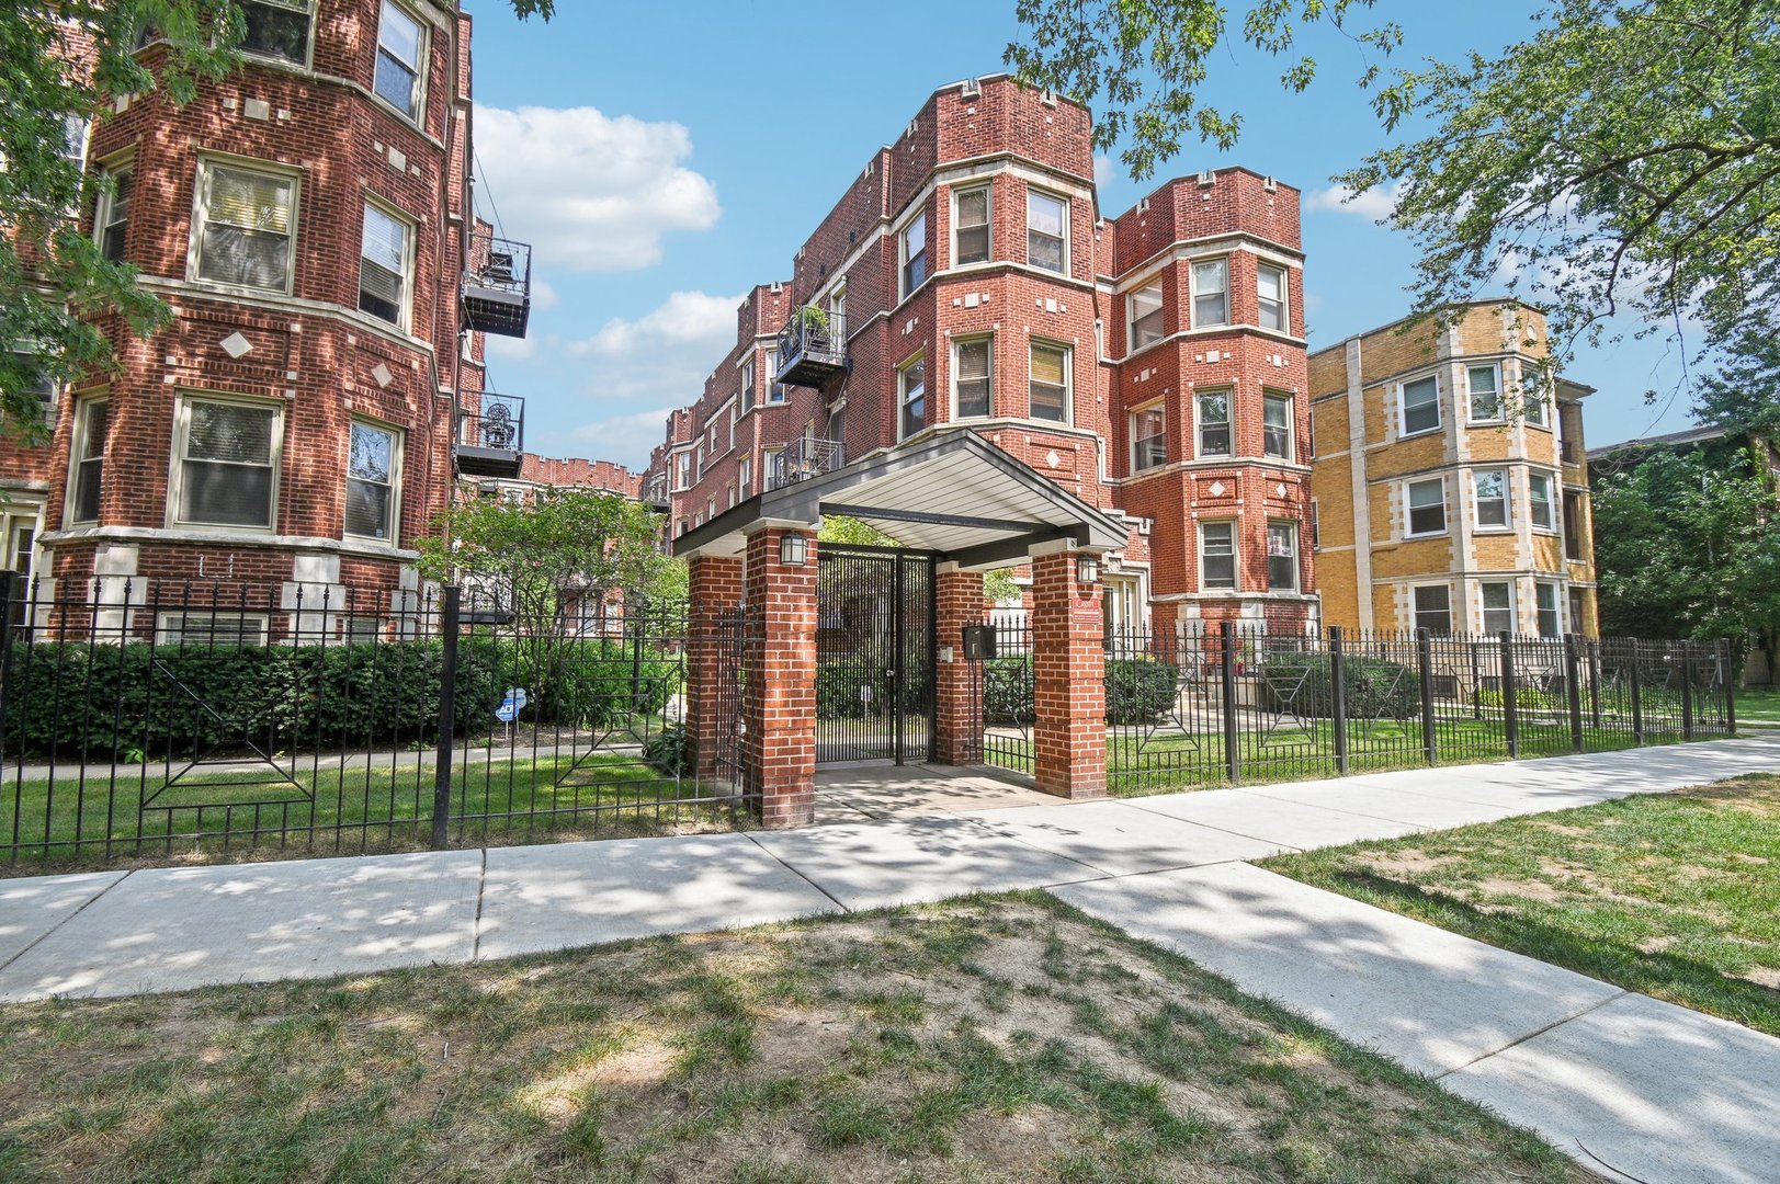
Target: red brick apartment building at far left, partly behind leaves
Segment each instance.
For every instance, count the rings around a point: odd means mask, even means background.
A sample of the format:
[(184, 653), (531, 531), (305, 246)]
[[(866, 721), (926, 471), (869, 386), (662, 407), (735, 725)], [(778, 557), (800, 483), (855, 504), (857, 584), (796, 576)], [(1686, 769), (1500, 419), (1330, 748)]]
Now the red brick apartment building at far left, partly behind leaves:
[[(80, 134), (116, 182), (84, 226), (173, 326), (139, 340), (105, 319), (119, 372), (46, 392), (48, 447), (0, 445), (7, 564), (166, 636), (194, 625), (126, 614), (126, 586), (137, 604), (150, 577), (306, 604), (354, 588), (399, 611), (413, 539), (523, 450), (523, 402), (482, 390), (482, 333), (525, 333), (530, 260), (473, 217), (470, 16), (240, 7), (242, 69), (187, 107), (119, 100)], [(153, 32), (139, 50), (164, 52)], [(279, 630), (249, 616), (244, 636)]]

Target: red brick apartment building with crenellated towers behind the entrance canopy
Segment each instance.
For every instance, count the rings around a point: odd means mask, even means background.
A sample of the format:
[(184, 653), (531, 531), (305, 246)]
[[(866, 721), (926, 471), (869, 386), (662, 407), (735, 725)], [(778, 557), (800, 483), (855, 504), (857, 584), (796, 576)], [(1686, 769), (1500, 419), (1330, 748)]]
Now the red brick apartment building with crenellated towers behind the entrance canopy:
[(646, 497), (685, 534), (787, 483), (975, 433), (1123, 515), (1109, 625), (1301, 632), (1317, 611), (1298, 219), (1296, 189), (1239, 167), (1107, 217), (1084, 107), (1007, 77), (942, 87), (790, 280), (742, 301)]

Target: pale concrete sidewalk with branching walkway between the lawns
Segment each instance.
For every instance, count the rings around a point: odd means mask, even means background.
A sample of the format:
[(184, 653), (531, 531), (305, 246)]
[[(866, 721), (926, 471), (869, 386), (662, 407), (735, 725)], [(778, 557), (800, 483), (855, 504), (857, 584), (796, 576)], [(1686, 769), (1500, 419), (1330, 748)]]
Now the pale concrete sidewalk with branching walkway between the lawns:
[(1538, 1129), (1602, 1175), (1771, 1184), (1780, 1040), (1246, 860), (1775, 769), (1780, 737), (1091, 803), (934, 771), (902, 808), (870, 799), (869, 778), (831, 782), (824, 794), (844, 808), (822, 817), (840, 821), (796, 831), (0, 880), (0, 1002), (1048, 888)]

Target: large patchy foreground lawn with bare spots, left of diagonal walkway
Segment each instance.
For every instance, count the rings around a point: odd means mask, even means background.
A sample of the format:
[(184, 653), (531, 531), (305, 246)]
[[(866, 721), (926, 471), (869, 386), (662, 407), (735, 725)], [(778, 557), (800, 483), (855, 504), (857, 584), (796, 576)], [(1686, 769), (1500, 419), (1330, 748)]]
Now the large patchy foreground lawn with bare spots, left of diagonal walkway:
[(0, 1008), (0, 1179), (1593, 1179), (1041, 894)]

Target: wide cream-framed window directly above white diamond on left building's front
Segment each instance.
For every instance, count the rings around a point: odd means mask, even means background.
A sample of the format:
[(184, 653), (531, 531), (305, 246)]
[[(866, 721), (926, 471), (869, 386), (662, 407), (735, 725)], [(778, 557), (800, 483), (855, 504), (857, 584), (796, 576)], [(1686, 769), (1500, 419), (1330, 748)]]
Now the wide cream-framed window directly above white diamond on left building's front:
[(198, 278), (288, 292), (295, 178), (206, 160), (199, 180)]

